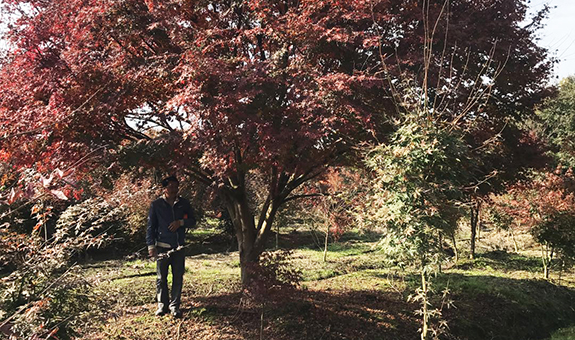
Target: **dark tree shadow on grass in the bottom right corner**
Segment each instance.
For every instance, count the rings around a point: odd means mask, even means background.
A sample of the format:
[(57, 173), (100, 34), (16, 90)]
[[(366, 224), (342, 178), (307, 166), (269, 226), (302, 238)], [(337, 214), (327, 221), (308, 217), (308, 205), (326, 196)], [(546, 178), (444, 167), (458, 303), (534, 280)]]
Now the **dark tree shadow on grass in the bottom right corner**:
[[(449, 283), (449, 284), (448, 284)], [(456, 308), (444, 311), (454, 339), (547, 339), (575, 325), (575, 290), (544, 280), (444, 274)]]

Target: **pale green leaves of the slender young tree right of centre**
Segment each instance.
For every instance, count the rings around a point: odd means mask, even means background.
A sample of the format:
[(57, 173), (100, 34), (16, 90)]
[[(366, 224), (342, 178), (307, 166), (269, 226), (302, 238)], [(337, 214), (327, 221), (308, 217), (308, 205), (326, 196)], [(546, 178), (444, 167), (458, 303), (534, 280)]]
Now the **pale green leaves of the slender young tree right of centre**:
[(385, 225), (387, 251), (406, 260), (429, 261), (435, 237), (453, 232), (470, 182), (470, 154), (458, 131), (407, 115), (390, 143), (370, 150), (366, 165), (376, 175), (372, 223)]

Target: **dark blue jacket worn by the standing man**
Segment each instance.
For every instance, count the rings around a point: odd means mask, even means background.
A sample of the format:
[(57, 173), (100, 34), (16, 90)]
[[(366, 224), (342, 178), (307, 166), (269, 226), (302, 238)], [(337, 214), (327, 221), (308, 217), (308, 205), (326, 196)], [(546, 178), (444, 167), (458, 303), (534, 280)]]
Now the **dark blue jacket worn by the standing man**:
[[(168, 226), (176, 220), (183, 220), (184, 225), (170, 231)], [(185, 243), (186, 228), (195, 224), (194, 211), (187, 199), (178, 197), (172, 207), (164, 198), (158, 198), (150, 204), (146, 243), (153, 246), (160, 242), (177, 248)]]

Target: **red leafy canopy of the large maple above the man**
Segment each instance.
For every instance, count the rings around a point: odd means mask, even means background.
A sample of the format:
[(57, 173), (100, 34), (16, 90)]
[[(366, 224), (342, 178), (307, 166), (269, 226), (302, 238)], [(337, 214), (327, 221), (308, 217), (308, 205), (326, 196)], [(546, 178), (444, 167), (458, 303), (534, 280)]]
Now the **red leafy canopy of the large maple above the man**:
[(0, 74), (4, 159), (73, 164), (159, 127), (215, 175), (238, 156), (296, 173), (325, 163), (377, 112), (362, 94), (378, 81), (354, 65), (375, 53), (367, 6), (12, 1), (27, 10)]

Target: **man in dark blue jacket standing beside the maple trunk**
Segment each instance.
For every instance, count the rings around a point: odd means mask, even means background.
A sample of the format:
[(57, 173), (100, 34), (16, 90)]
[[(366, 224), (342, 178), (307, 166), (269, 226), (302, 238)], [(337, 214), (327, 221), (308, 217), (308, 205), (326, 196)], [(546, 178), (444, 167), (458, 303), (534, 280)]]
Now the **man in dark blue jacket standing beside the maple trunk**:
[[(190, 202), (178, 196), (175, 176), (162, 180), (164, 195), (153, 201), (148, 214), (146, 243), (150, 257), (156, 259), (157, 316), (168, 311), (182, 317), (180, 302), (185, 268), (184, 236), (186, 227), (196, 224)], [(172, 267), (172, 298), (169, 299), (168, 267)]]

